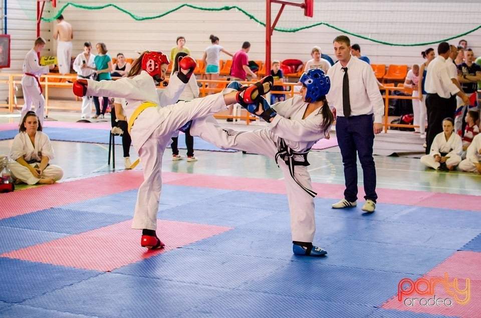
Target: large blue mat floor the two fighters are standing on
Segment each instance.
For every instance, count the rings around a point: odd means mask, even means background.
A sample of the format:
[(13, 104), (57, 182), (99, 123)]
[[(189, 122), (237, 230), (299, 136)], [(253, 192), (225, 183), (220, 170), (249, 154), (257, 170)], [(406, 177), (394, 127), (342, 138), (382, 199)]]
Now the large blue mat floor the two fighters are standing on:
[[(65, 227), (75, 233), (129, 219), (136, 193), (0, 220), (1, 247), (55, 239)], [(363, 214), (360, 207), (332, 209), (334, 201), (315, 199), (314, 243), (328, 255), (303, 257), (292, 254), (286, 195), (164, 184), (159, 218), (233, 229), (112, 273), (0, 258), (1, 277), (19, 276), (0, 290), (0, 316), (54, 310), (59, 317), (438, 317), (376, 306), (396, 294), (401, 278), (420, 277), (463, 244), (463, 250), (477, 246), (478, 212), (380, 203), (375, 213)], [(446, 242), (446, 233), (455, 237)], [(4, 240), (9, 234), (18, 239)], [(26, 306), (10, 306), (22, 299)]]

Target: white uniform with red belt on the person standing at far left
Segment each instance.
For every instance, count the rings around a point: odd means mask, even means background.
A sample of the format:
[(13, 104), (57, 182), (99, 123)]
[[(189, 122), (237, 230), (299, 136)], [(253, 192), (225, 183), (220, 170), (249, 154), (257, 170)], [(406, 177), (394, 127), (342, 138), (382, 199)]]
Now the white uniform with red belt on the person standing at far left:
[(45, 97), (42, 95), (42, 88), (39, 82), (39, 76), (49, 73), (49, 66), (40, 66), (39, 58), (35, 49), (28, 51), (25, 56), (24, 65), (22, 67), (24, 75), (22, 76), (22, 91), (24, 94), (24, 106), (22, 107), (22, 115), (20, 123), (24, 119), (27, 111), (35, 106), (35, 112), (40, 118), (40, 123), (44, 124), (44, 107)]

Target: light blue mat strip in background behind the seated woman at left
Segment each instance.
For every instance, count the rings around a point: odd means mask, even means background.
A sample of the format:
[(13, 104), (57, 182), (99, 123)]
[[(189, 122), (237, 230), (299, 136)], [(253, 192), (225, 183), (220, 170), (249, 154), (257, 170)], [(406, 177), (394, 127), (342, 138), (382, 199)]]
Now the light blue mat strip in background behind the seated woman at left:
[[(75, 142), (92, 142), (92, 143), (109, 143), (109, 130), (107, 129), (90, 129), (90, 128), (65, 128), (65, 127), (45, 127), (43, 131), (49, 135), (50, 140), (60, 141), (75, 141)], [(0, 140), (12, 139), (19, 133), (19, 130), (3, 130), (0, 131)], [(115, 144), (122, 144), (122, 137), (115, 136)], [(183, 133), (179, 133), (178, 145), (179, 149), (186, 149), (185, 137)], [(213, 144), (199, 138), (194, 137), (195, 150), (210, 150), (210, 151), (230, 151), (220, 149)]]

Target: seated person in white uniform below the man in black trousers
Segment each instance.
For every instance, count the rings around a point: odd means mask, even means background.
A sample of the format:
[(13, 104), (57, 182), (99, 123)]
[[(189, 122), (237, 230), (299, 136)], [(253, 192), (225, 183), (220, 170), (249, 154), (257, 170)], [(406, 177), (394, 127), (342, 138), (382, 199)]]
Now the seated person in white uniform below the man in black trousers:
[(440, 171), (454, 170), (461, 162), (462, 140), (453, 133), (454, 119), (444, 118), (442, 130), (434, 137), (429, 154), (421, 157), (421, 163)]

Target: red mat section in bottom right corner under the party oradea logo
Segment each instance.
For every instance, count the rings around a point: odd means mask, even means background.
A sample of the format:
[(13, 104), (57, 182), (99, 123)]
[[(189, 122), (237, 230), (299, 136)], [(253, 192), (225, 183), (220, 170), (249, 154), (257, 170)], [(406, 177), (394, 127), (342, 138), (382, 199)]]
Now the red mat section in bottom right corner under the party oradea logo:
[[(418, 294), (416, 289), (413, 289), (411, 294), (402, 295), (402, 300), (399, 301), (396, 293), (394, 297), (382, 305), (382, 308), (442, 314), (462, 318), (479, 317), (481, 316), (480, 264), (481, 252), (457, 251), (423, 276), (423, 278), (426, 278), (428, 281), (430, 281), (431, 278), (440, 278), (443, 281), (447, 281), (447, 290), (449, 290), (449, 293), (446, 291), (445, 285), (440, 282), (433, 285), (433, 292), (431, 294)], [(466, 288), (467, 278), (469, 279), (469, 288)], [(414, 278), (412, 280), (416, 284), (416, 279)], [(452, 285), (449, 286), (449, 283), (453, 283), (455, 280), (457, 280), (457, 288), (459, 290), (465, 289), (465, 293), (452, 293), (454, 287)], [(409, 286), (410, 283), (404, 286), (404, 290), (408, 291), (407, 293), (409, 293)], [(397, 287), (393, 286), (393, 289), (394, 288), (396, 288), (397, 291)], [(426, 288), (427, 284), (419, 283), (418, 290), (427, 290)], [(457, 296), (458, 302), (454, 295)], [(412, 300), (413, 298), (416, 299)], [(422, 298), (425, 300), (420, 300)], [(435, 301), (434, 299), (438, 300)]]

